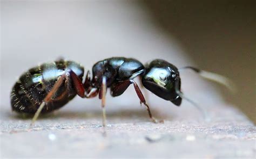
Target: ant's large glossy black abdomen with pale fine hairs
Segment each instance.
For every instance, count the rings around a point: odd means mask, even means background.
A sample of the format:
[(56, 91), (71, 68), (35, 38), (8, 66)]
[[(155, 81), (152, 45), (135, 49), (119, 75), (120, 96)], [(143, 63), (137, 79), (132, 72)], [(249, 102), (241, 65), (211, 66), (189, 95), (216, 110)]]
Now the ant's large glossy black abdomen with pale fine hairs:
[(52, 99), (43, 107), (42, 113), (48, 113), (64, 106), (76, 96), (76, 90), (70, 77), (52, 92), (53, 85), (63, 74), (72, 70), (80, 80), (84, 68), (77, 62), (59, 60), (33, 67), (19, 77), (11, 92), (12, 110), (35, 114), (44, 98), (50, 93)]

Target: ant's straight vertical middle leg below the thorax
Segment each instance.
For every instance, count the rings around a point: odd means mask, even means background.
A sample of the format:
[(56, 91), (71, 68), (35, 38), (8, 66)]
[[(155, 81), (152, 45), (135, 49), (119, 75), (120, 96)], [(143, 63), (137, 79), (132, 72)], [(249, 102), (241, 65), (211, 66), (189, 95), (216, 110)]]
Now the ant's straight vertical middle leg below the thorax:
[(99, 92), (99, 99), (102, 99), (102, 117), (103, 117), (103, 127), (106, 126), (106, 110), (105, 110), (105, 104), (106, 104), (106, 77), (103, 76), (102, 78), (102, 86), (100, 87)]

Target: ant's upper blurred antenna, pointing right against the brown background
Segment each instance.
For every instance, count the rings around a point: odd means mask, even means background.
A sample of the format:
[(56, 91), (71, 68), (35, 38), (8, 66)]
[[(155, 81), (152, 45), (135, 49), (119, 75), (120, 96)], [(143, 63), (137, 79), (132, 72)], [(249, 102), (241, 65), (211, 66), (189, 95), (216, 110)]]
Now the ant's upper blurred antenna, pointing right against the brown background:
[(217, 82), (219, 84), (226, 86), (226, 88), (228, 88), (232, 93), (237, 92), (235, 84), (227, 77), (224, 77), (219, 74), (211, 73), (205, 70), (201, 70), (195, 67), (191, 67), (191, 66), (186, 66), (186, 67), (180, 68), (179, 70), (182, 70), (182, 69), (191, 69), (203, 78), (206, 78), (208, 80), (211, 80), (213, 82)]

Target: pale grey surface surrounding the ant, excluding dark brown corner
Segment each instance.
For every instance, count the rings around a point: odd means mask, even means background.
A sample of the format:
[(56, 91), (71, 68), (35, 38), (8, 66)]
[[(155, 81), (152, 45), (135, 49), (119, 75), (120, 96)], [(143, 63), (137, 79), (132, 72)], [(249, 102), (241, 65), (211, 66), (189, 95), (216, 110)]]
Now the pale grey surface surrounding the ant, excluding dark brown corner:
[(120, 97), (107, 95), (106, 136), (97, 98), (76, 97), (28, 129), (30, 119), (11, 112), (10, 90), (22, 71), (37, 63), (64, 56), (88, 70), (106, 57), (126, 56), (143, 63), (165, 59), (177, 67), (195, 64), (134, 2), (1, 4), (1, 158), (255, 158), (252, 122), (224, 101), (217, 85), (186, 71), (181, 88), (208, 112), (210, 122), (186, 101), (176, 107), (143, 90), (152, 114), (165, 121), (153, 124), (130, 87)]

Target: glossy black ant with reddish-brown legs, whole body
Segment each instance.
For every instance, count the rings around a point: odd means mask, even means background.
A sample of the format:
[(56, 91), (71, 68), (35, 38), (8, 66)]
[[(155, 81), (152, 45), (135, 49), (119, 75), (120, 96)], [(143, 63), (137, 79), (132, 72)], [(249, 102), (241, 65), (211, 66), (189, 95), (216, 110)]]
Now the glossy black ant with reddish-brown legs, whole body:
[[(194, 67), (183, 69), (191, 69), (205, 78), (230, 86), (227, 78), (221, 75)], [(83, 66), (75, 61), (63, 59), (33, 67), (22, 74), (12, 88), (12, 110), (18, 113), (34, 114), (30, 125), (32, 126), (40, 113), (57, 110), (76, 95), (82, 98), (98, 96), (102, 100), (103, 126), (105, 127), (107, 88), (110, 88), (111, 96), (116, 97), (122, 95), (132, 84), (140, 104), (146, 106), (150, 119), (157, 122), (152, 117), (150, 107), (138, 84), (133, 80), (139, 76), (143, 86), (158, 97), (170, 100), (177, 106), (181, 104), (182, 99), (186, 99), (203, 112), (196, 103), (180, 91), (179, 69), (164, 60), (153, 60), (144, 66), (136, 59), (112, 57), (94, 64), (92, 77), (90, 71), (87, 71), (84, 83), (82, 83), (83, 75)], [(205, 113), (203, 114), (206, 116)]]

